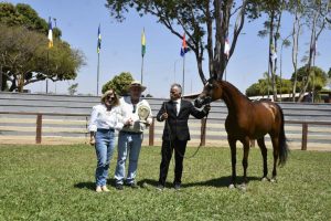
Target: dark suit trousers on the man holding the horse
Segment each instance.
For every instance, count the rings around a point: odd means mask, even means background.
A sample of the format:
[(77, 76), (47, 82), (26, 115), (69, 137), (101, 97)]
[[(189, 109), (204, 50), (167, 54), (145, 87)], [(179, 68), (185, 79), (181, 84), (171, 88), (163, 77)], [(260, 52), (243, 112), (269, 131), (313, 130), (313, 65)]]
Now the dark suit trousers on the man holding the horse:
[(173, 185), (180, 185), (182, 182), (183, 172), (183, 156), (185, 155), (188, 140), (163, 140), (162, 141), (162, 160), (160, 165), (160, 178), (159, 183), (166, 186), (169, 164), (172, 157), (172, 151), (174, 149), (174, 180)]

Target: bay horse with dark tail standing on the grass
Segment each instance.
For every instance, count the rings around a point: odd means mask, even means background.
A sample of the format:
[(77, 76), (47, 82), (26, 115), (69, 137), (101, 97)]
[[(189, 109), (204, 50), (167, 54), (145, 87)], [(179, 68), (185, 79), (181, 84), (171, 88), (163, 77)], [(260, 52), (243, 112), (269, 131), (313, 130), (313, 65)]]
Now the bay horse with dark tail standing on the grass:
[(229, 188), (236, 181), (236, 141), (244, 146), (243, 167), (244, 183), (247, 182), (248, 152), (252, 139), (257, 139), (263, 156), (263, 180), (269, 180), (267, 166), (267, 148), (265, 135), (269, 134), (274, 149), (274, 169), (270, 181), (276, 181), (277, 161), (284, 166), (288, 156), (287, 139), (284, 130), (284, 113), (280, 106), (269, 101), (252, 102), (228, 82), (210, 78), (203, 92), (194, 101), (196, 107), (223, 99), (227, 106), (228, 115), (225, 120), (227, 141), (231, 148), (232, 180)]

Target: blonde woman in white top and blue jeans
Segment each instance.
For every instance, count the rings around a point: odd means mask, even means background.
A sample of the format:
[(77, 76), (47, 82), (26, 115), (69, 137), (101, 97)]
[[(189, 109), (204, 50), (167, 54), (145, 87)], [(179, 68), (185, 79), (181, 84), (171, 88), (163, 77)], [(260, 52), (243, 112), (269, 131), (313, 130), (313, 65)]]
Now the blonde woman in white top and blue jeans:
[(88, 130), (90, 145), (95, 146), (97, 168), (95, 172), (96, 191), (108, 192), (106, 186), (109, 164), (115, 148), (115, 129), (122, 128), (119, 99), (113, 90), (102, 96), (102, 104), (93, 107)]

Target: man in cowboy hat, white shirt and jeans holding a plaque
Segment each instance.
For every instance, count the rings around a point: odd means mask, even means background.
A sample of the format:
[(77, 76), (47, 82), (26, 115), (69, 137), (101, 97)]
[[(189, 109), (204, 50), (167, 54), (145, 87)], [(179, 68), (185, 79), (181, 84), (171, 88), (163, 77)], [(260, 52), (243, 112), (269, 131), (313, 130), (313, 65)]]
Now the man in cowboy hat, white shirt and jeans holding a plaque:
[[(151, 109), (141, 93), (146, 90), (140, 82), (134, 81), (130, 84), (130, 96), (120, 98), (124, 124), (126, 125), (118, 135), (118, 157), (115, 171), (116, 188), (124, 189), (124, 185), (137, 188), (136, 176), (138, 159), (143, 139), (143, 130), (152, 122)], [(147, 109), (148, 116), (141, 119), (138, 115), (140, 109)], [(126, 161), (129, 158), (128, 173), (126, 175)]]

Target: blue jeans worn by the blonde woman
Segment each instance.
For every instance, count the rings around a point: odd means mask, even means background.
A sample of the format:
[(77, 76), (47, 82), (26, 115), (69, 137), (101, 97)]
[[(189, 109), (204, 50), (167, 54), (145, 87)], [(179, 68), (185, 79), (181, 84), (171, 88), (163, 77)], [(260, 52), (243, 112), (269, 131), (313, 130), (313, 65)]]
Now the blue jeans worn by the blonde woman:
[(109, 129), (98, 129), (95, 135), (95, 150), (97, 156), (97, 168), (95, 180), (97, 187), (103, 187), (107, 182), (110, 159), (115, 147), (115, 131)]

